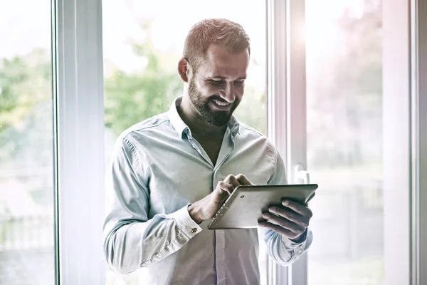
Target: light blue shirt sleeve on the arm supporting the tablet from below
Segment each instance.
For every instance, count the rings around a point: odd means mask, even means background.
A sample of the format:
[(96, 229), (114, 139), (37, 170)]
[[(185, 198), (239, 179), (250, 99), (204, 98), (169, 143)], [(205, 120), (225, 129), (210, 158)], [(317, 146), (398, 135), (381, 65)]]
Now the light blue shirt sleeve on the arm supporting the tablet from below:
[[(275, 151), (274, 172), (268, 184), (288, 184), (285, 164), (277, 151)], [(302, 254), (307, 252), (307, 249), (310, 247), (313, 239), (310, 228), (307, 229), (305, 240), (300, 243), (292, 242), (290, 239), (284, 237), (283, 234), (274, 232), (271, 229), (262, 229), (262, 231), (268, 254), (276, 263), (282, 266), (288, 266), (297, 261)]]

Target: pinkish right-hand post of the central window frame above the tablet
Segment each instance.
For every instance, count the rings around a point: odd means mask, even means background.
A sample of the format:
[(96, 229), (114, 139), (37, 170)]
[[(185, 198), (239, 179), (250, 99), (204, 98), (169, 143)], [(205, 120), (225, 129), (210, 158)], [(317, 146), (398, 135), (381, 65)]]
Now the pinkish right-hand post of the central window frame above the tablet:
[[(306, 104), (306, 52), (305, 1), (288, 0), (286, 7), (286, 105), (287, 123), (287, 169), (288, 182), (299, 184), (297, 171), (307, 170), (307, 104)], [(296, 170), (300, 167), (300, 170)], [(305, 183), (309, 183), (309, 177)], [(310, 249), (309, 249), (310, 250)], [(290, 266), (288, 282), (292, 285), (307, 285), (307, 253)]]

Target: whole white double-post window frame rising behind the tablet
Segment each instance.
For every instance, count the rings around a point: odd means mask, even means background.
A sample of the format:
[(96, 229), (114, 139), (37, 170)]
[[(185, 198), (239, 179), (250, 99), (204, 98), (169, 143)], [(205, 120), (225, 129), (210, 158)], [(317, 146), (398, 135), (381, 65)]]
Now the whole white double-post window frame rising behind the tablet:
[[(268, 137), (283, 155), (292, 183), (295, 166), (307, 167), (305, 1), (268, 0), (267, 14)], [(307, 255), (289, 267), (269, 261), (268, 284), (307, 284)]]

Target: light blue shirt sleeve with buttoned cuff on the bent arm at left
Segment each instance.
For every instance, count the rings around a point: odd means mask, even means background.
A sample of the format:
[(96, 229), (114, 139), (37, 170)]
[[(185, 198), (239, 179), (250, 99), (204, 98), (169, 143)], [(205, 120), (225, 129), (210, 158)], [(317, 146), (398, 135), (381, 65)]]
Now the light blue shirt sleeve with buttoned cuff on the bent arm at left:
[(191, 219), (188, 205), (148, 219), (149, 171), (142, 159), (130, 140), (117, 139), (108, 175), (102, 236), (107, 263), (119, 273), (168, 257), (202, 230)]

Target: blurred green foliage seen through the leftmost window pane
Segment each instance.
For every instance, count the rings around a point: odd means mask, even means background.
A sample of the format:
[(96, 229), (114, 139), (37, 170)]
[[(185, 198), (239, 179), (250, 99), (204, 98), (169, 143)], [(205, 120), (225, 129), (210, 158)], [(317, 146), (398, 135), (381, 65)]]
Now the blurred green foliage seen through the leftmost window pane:
[[(36, 49), (0, 63), (0, 162), (38, 166), (52, 156), (51, 60)], [(31, 150), (36, 150), (31, 152)]]

